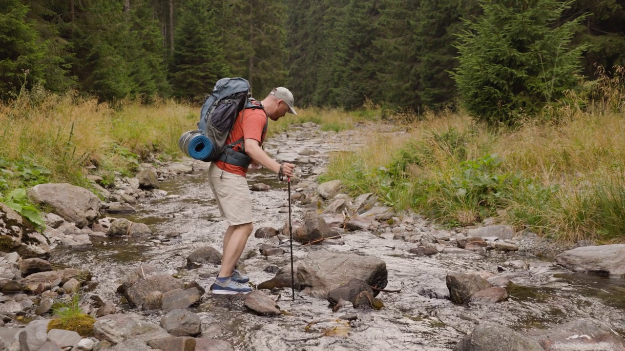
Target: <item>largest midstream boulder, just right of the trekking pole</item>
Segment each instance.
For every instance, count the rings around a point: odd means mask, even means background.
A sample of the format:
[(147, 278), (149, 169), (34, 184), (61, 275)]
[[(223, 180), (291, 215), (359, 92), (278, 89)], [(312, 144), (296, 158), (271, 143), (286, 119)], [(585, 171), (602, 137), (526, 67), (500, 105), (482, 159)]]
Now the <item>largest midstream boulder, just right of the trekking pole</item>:
[(302, 293), (320, 299), (327, 299), (328, 292), (352, 278), (384, 289), (387, 284), (386, 262), (347, 252), (319, 251), (309, 253), (297, 266), (297, 280), (302, 285)]

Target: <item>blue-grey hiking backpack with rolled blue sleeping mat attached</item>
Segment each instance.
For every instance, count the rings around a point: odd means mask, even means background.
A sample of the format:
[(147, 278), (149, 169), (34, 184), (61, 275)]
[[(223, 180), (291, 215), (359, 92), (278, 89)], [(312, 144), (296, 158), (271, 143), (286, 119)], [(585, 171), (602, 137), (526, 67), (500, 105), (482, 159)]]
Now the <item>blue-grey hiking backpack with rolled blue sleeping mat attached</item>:
[[(241, 77), (222, 78), (212, 89), (200, 110), (197, 131), (183, 134), (178, 144), (188, 156), (204, 162), (224, 161), (234, 166), (247, 168), (251, 158), (244, 152), (243, 138), (226, 144), (234, 121), (243, 109), (262, 109), (259, 102), (251, 98), (249, 82)], [(267, 130), (265, 123), (262, 134)], [(241, 145), (241, 152), (234, 147)]]

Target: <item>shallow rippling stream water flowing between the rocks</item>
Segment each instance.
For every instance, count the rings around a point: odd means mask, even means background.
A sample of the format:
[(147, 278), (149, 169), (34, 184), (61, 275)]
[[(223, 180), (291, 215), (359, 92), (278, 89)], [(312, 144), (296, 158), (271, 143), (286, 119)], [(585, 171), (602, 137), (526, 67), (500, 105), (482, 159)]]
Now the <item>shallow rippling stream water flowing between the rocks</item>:
[[(299, 164), (301, 177), (306, 178), (327, 162), (327, 153), (344, 151), (344, 145), (354, 149), (368, 140), (367, 132), (388, 132), (385, 126), (357, 126), (351, 131), (321, 132), (315, 127), (294, 128), (266, 142), (266, 150), (274, 157), (292, 161), (302, 149), (319, 152), (314, 163)], [(391, 135), (389, 134), (389, 137)], [(308, 160), (311, 161), (311, 160)], [(297, 163), (297, 162), (295, 162)], [(252, 172), (249, 184), (264, 182), (271, 185), (267, 192), (252, 192), (254, 227), (281, 228), (287, 214), (286, 184), (277, 182), (275, 175), (265, 171)], [(293, 190), (297, 185), (293, 185)], [(212, 284), (217, 267), (186, 269), (186, 257), (193, 250), (212, 245), (221, 251), (226, 223), (207, 185), (206, 173), (184, 175), (161, 182), (161, 189), (179, 195), (175, 199), (151, 199), (137, 206), (131, 220), (151, 226), (153, 237), (131, 239), (101, 239), (83, 250), (53, 250), (52, 262), (69, 267), (88, 269), (93, 274), (89, 289), (104, 300), (119, 303), (116, 294), (118, 279), (141, 263), (148, 263), (176, 274), (186, 282), (196, 280), (206, 289)], [(301, 219), (302, 208), (294, 204), (292, 215)], [(166, 239), (166, 232), (178, 231), (179, 237)], [(253, 235), (248, 250), (267, 239)], [(259, 317), (246, 312), (236, 297), (215, 297), (207, 293), (194, 308), (202, 319), (205, 334), (228, 340), (236, 350), (450, 350), (457, 340), (484, 320), (500, 322), (515, 330), (545, 329), (579, 317), (592, 317), (625, 332), (625, 280), (571, 274), (531, 255), (522, 254), (438, 254), (416, 257), (407, 252), (416, 244), (403, 240), (384, 239), (372, 232), (354, 232), (342, 238), (343, 245), (294, 244), (296, 260), (312, 250), (336, 250), (371, 255), (384, 260), (388, 270), (386, 289), (401, 289), (399, 294), (380, 293), (377, 297), (385, 307), (381, 310), (355, 310), (343, 307), (332, 312), (325, 300), (299, 296), (291, 300), (291, 290), (284, 289), (271, 296), (284, 312), (277, 317)], [(271, 257), (256, 256), (244, 261), (242, 270), (252, 282), (259, 284), (274, 274), (264, 272), (269, 265), (288, 264), (289, 243), (280, 244), (285, 254)], [(247, 252), (244, 252), (246, 255)], [(522, 259), (531, 264), (529, 270), (514, 270), (507, 260)], [(494, 305), (464, 307), (449, 300), (436, 299), (445, 294), (445, 276), (450, 271), (487, 270), (502, 274), (514, 282), (508, 287), (509, 298)], [(131, 310), (128, 305), (121, 305)], [(145, 314), (159, 323), (162, 314)], [(346, 322), (338, 317), (355, 314), (357, 320)]]

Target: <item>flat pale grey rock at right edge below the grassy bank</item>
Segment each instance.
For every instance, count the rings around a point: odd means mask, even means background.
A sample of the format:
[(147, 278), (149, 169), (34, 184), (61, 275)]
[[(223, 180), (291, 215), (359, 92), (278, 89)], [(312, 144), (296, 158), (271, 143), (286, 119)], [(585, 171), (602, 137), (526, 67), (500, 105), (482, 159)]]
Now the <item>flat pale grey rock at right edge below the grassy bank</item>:
[(582, 246), (556, 255), (557, 264), (573, 272), (625, 275), (625, 244)]

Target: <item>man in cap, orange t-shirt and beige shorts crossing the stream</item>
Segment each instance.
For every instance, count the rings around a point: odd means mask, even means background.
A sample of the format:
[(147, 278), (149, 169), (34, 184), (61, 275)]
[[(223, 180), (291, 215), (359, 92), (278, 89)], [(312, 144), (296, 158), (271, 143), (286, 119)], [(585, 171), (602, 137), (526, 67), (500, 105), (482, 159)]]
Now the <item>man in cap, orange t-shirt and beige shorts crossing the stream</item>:
[[(276, 172), (281, 177), (292, 177), (295, 165), (286, 162), (279, 164), (262, 150), (261, 145), (266, 134), (267, 118), (277, 121), (284, 117), (286, 112), (297, 114), (293, 107), (293, 95), (289, 89), (277, 87), (261, 101), (261, 104), (264, 109), (241, 111), (226, 142), (231, 144), (242, 141), (234, 146), (235, 151), (244, 152), (254, 163)], [(224, 235), (221, 270), (211, 285), (213, 294), (247, 294), (252, 291), (246, 285), (249, 278), (234, 269), (254, 228), (252, 199), (247, 187), (246, 174), (247, 167), (234, 166), (224, 161), (211, 162), (209, 167), (209, 184), (217, 200), (219, 212), (228, 222)]]

